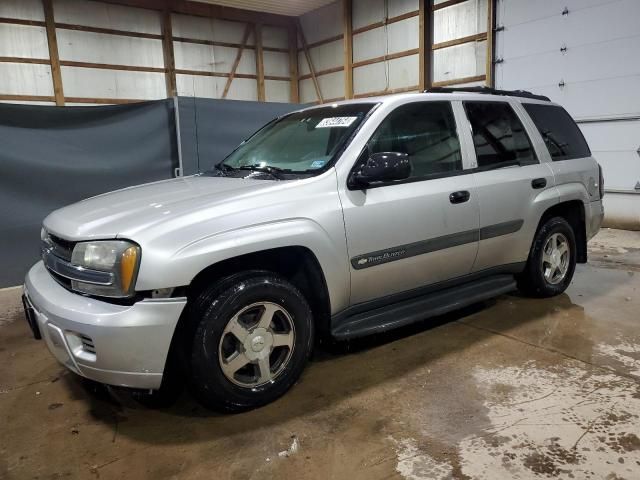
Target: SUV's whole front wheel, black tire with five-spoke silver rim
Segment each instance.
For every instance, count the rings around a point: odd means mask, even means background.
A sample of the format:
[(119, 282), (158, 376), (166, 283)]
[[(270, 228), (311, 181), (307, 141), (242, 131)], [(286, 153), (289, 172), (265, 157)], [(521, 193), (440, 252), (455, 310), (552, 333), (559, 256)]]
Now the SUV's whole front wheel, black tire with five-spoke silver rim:
[(205, 288), (190, 316), (190, 385), (214, 410), (241, 412), (276, 400), (298, 380), (312, 352), (306, 299), (270, 272), (242, 272)]

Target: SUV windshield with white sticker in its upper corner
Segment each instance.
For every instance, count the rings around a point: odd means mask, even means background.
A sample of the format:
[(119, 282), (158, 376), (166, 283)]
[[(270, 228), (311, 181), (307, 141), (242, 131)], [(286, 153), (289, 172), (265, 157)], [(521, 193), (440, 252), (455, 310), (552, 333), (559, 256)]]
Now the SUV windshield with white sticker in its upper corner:
[(287, 115), (259, 130), (222, 163), (227, 169), (313, 173), (331, 161), (373, 106), (333, 105)]

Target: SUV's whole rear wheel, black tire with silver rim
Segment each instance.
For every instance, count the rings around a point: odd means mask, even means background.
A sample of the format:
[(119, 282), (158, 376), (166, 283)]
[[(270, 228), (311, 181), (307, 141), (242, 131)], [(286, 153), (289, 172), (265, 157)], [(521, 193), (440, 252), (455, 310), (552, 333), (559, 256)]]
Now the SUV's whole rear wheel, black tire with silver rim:
[[(552, 254), (554, 239), (555, 255)], [(566, 253), (561, 246), (566, 247)], [(560, 295), (573, 278), (576, 253), (576, 237), (571, 225), (562, 217), (547, 219), (536, 232), (527, 266), (518, 278), (518, 288), (532, 297)]]

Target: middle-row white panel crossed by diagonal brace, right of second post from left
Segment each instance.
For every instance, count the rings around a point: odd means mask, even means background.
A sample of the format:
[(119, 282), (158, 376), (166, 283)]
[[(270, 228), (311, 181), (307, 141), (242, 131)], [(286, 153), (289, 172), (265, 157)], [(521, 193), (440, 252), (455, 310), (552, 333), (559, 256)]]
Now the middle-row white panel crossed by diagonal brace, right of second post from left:
[[(177, 69), (219, 73), (231, 72), (238, 54), (237, 48), (186, 42), (173, 42), (173, 51)], [(255, 75), (255, 50), (243, 50), (236, 73)]]

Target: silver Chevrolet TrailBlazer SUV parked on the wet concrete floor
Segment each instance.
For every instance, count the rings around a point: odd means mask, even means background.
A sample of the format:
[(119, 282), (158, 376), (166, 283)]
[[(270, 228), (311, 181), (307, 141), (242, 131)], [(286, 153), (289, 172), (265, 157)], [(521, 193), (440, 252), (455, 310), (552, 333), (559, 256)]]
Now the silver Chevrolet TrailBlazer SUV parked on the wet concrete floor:
[(600, 228), (580, 130), (527, 92), (306, 108), (199, 175), (53, 212), (24, 285), (53, 355), (98, 382), (245, 410), (350, 339), (519, 288), (563, 292)]

